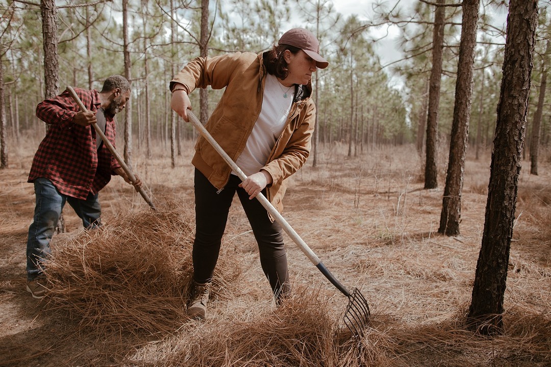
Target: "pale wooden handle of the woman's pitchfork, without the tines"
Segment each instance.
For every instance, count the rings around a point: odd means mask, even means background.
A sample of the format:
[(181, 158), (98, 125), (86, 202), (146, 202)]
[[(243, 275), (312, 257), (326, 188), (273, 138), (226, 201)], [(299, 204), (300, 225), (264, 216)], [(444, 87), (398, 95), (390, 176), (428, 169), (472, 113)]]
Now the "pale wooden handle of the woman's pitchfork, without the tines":
[[(218, 142), (210, 135), (210, 133), (207, 131), (207, 129), (203, 126), (203, 124), (199, 121), (199, 119), (191, 112), (189, 109), (187, 110), (187, 117), (190, 120), (191, 124), (197, 129), (199, 134), (203, 136), (203, 138), (207, 139), (207, 141), (210, 143), (210, 145), (213, 146), (213, 148), (222, 156), (224, 161), (228, 163), (228, 165), (233, 169), (239, 178), (244, 181), (247, 176), (246, 174), (241, 171), (241, 168), (237, 166), (237, 164), (231, 159), (231, 157), (222, 149), (222, 147), (218, 144)], [(312, 249), (302, 240), (300, 235), (296, 233), (296, 231), (291, 227), (291, 225), (285, 220), (285, 218), (277, 211), (277, 209), (272, 205), (271, 202), (266, 198), (266, 196), (262, 195), (262, 193), (259, 193), (256, 195), (256, 198), (264, 208), (272, 215), (272, 217), (276, 220), (276, 222), (279, 223), (280, 226), (282, 226), (283, 230), (287, 232), (289, 237), (293, 240), (296, 245), (302, 250), (302, 252), (306, 255), (306, 257), (312, 262), (312, 264), (316, 265), (317, 269), (321, 271), (321, 273), (333, 284), (333, 286), (337, 287), (339, 291), (341, 291), (345, 296), (348, 298), (352, 297), (350, 292), (346, 287), (341, 284), (337, 280), (337, 278), (327, 269), (327, 267), (321, 262), (320, 258), (317, 257), (317, 255), (312, 251)]]

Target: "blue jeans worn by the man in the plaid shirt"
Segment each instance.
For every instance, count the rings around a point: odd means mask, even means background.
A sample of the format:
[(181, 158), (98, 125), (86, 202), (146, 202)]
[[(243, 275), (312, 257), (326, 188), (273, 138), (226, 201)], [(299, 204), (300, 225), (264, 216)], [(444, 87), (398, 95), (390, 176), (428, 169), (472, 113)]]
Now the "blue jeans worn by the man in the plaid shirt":
[(60, 220), (65, 202), (68, 202), (82, 219), (86, 229), (101, 226), (101, 207), (98, 194), (89, 194), (86, 200), (63, 195), (47, 178), (34, 182), (36, 205), (33, 223), (27, 238), (27, 280), (31, 281), (45, 269), (44, 262), (51, 253), (50, 240)]

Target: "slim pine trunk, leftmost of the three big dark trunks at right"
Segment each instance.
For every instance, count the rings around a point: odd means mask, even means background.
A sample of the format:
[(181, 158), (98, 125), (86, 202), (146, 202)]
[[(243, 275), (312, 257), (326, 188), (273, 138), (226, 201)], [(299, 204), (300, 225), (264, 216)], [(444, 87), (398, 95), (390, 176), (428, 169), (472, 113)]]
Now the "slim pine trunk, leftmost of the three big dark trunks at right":
[[(445, 0), (436, 0), (445, 4)], [(426, 162), (425, 189), (438, 187), (436, 167), (436, 145), (438, 130), (438, 108), (440, 104), (440, 79), (442, 75), (442, 48), (444, 46), (445, 7), (436, 7), (433, 31), (433, 68), (429, 79), (429, 110), (426, 117)]]

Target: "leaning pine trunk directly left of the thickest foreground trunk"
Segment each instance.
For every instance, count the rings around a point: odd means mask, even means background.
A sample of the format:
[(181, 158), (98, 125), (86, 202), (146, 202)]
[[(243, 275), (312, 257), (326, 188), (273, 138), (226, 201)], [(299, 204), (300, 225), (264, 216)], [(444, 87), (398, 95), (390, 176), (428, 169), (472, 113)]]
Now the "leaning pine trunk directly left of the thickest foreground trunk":
[(473, 96), (474, 48), (477, 45), (477, 22), (480, 0), (463, 1), (459, 63), (455, 85), (455, 106), (450, 140), (450, 157), (442, 199), (439, 233), (459, 235), (461, 191), (465, 171), (465, 154), (469, 136), (469, 119)]

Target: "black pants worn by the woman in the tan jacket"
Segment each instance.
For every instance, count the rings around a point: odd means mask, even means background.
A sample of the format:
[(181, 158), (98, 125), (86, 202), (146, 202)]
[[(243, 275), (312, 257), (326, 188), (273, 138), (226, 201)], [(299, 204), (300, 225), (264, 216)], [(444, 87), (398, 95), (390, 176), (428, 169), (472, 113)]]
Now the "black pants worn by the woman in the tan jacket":
[[(237, 192), (245, 210), (260, 252), (260, 263), (277, 299), (289, 292), (287, 253), (282, 228), (268, 217), (267, 210), (257, 199), (249, 199), (240, 188), (239, 177), (231, 175), (220, 193), (198, 169), (195, 170), (195, 221), (193, 242), (193, 278), (197, 283), (212, 281), (218, 260), (222, 235), (228, 221), (231, 202)], [(266, 195), (266, 190), (262, 191)]]

